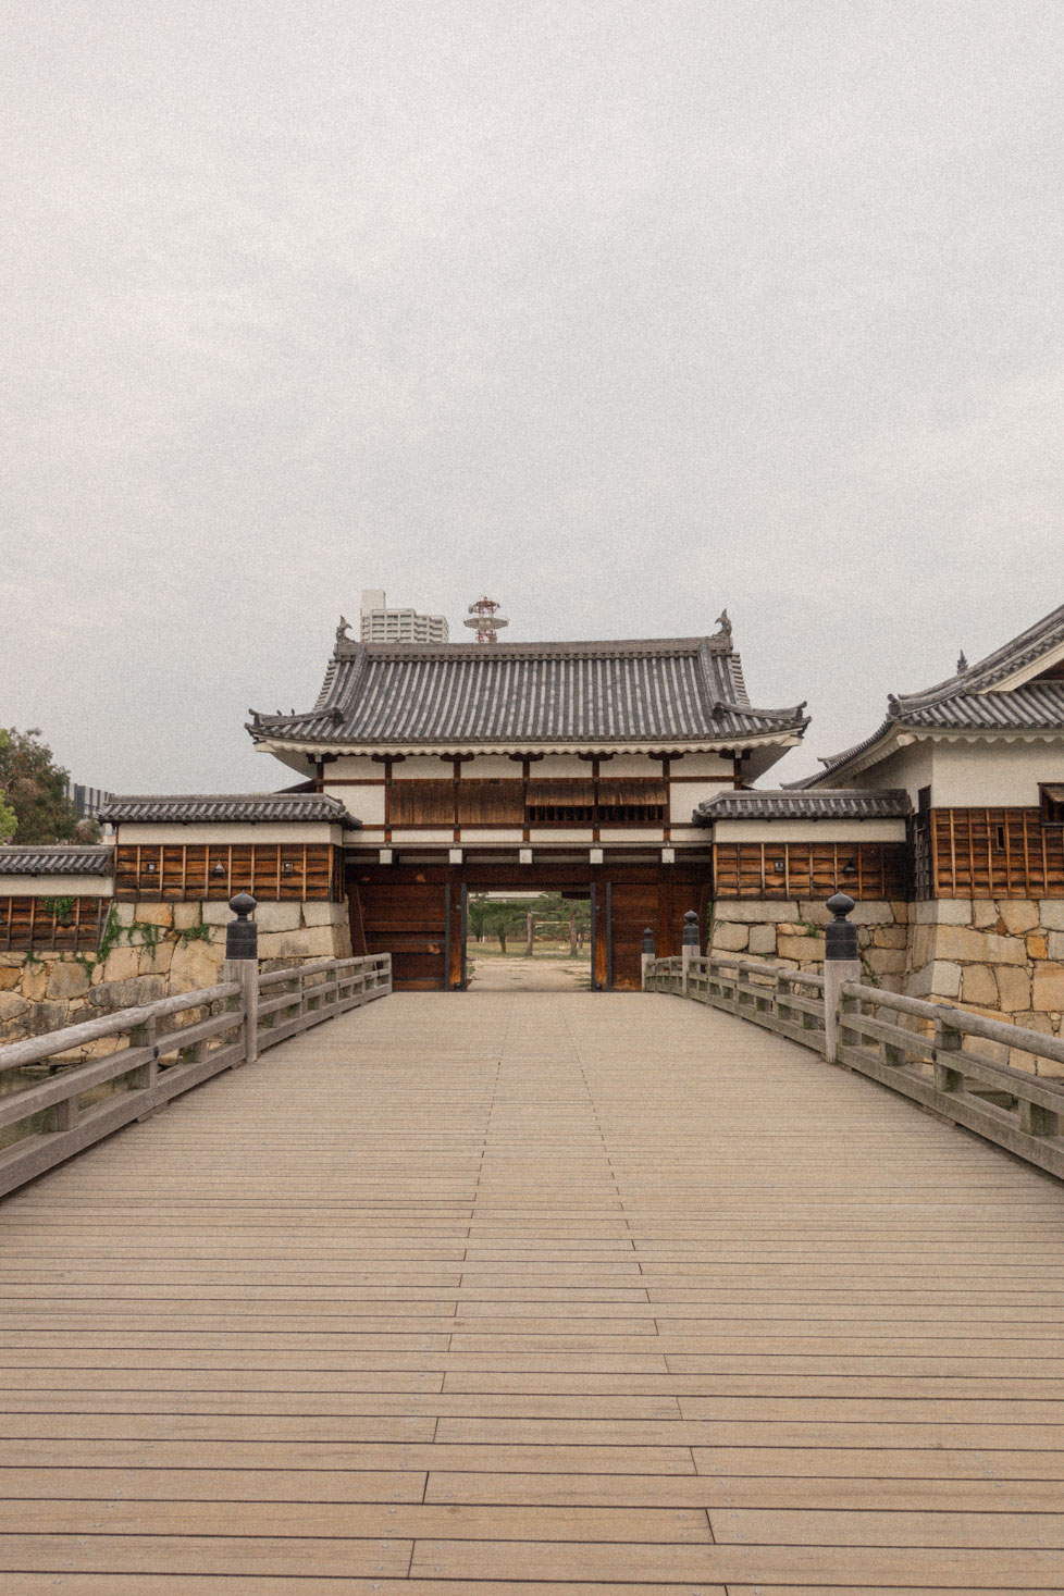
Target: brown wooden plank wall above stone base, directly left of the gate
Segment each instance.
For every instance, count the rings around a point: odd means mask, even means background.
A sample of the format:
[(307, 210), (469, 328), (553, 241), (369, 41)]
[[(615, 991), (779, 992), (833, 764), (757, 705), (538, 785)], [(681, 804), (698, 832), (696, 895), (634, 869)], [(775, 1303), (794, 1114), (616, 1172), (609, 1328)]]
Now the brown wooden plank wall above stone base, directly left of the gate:
[(343, 899), (343, 851), (330, 843), (123, 843), (115, 897), (166, 902)]

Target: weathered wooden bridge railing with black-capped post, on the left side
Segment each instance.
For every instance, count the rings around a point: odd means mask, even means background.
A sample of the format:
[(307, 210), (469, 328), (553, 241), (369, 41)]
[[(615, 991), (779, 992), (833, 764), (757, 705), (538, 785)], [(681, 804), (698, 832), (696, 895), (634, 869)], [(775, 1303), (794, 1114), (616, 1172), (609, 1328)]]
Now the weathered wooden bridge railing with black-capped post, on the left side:
[[(266, 974), (257, 958), (234, 958), (215, 986), (0, 1047), (0, 1195), (222, 1069), (388, 993), (388, 953)], [(33, 1080), (56, 1068), (62, 1073)]]

